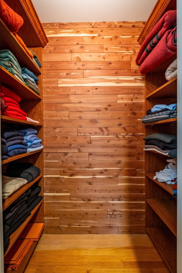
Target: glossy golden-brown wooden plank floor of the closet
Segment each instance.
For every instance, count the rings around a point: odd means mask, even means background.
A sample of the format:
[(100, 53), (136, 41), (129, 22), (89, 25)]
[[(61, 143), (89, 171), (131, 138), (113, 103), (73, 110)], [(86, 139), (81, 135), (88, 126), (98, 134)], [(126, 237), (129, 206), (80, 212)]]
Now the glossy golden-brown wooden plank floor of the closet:
[(169, 273), (147, 234), (43, 234), (24, 273)]

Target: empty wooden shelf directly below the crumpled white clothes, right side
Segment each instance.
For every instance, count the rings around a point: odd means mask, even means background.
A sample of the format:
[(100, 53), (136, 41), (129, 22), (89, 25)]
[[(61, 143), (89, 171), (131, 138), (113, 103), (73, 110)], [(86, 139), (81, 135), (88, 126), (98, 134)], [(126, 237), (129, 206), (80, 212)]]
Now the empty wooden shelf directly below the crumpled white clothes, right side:
[(166, 226), (177, 236), (177, 204), (174, 199), (146, 199), (146, 202), (166, 224)]

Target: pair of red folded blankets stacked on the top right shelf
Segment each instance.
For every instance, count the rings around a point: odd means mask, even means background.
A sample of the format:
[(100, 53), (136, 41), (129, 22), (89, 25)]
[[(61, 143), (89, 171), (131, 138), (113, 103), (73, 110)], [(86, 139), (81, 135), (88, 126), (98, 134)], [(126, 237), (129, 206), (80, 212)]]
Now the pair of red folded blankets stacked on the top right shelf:
[(140, 73), (151, 72), (176, 52), (176, 10), (172, 10), (161, 17), (140, 47), (136, 58)]

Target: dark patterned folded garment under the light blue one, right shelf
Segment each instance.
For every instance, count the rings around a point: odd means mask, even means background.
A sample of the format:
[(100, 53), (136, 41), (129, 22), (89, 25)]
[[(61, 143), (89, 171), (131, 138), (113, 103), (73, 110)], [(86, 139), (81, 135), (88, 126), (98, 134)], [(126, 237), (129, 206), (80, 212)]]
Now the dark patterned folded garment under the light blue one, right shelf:
[(148, 123), (148, 122), (154, 122), (154, 121), (160, 121), (165, 119), (173, 119), (177, 117), (177, 112), (173, 110), (168, 110), (160, 113), (155, 113), (152, 115), (146, 115), (142, 117), (142, 123)]

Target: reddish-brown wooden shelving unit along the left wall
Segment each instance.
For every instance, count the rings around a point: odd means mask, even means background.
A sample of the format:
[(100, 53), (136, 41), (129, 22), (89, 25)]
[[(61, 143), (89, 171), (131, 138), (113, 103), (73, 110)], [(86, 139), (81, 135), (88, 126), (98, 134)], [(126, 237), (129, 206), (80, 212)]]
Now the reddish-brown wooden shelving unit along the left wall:
[[(18, 30), (17, 34), (23, 40), (25, 45), (32, 49), (32, 51), (37, 55), (40, 62), (42, 63), (42, 48), (46, 46), (48, 40), (42, 24), (38, 18), (38, 15), (34, 9), (34, 6), (31, 0), (17, 0), (17, 1), (9, 1), (5, 0), (7, 5), (11, 7), (16, 13), (22, 16), (24, 23), (21, 28)], [(31, 72), (33, 72), (38, 78), (38, 88), (40, 91), (40, 95), (36, 94), (32, 89), (28, 88), (24, 83), (22, 83), (18, 78), (9, 73), (6, 69), (0, 66), (0, 84), (5, 86), (15, 92), (18, 96), (21, 97), (20, 108), (28, 114), (28, 117), (31, 119), (38, 121), (30, 122), (24, 121), (16, 118), (10, 118), (1, 115), (1, 129), (26, 129), (26, 128), (35, 128), (38, 133), (38, 138), (42, 139), (43, 144), (43, 106), (42, 106), (42, 68), (37, 67), (34, 61), (28, 56), (25, 49), (18, 42), (12, 32), (10, 32), (9, 28), (4, 24), (4, 22), (0, 19), (0, 29), (1, 29), (1, 39), (0, 39), (0, 49), (9, 49), (18, 60), (20, 67), (26, 67)], [(6, 169), (8, 164), (12, 161), (19, 162), (29, 162), (33, 165), (40, 168), (40, 175), (36, 177), (36, 179), (26, 185), (22, 186), (12, 195), (5, 199), (3, 202), (3, 211), (8, 209), (8, 207), (25, 191), (27, 191), (30, 187), (32, 187), (35, 183), (38, 183), (41, 186), (41, 191), (39, 195), (43, 196), (43, 149), (20, 154), (17, 156), (13, 156), (8, 158), (7, 160), (1, 161), (2, 164), (2, 175), (5, 175), (3, 171)], [(6, 251), (6, 254), (10, 249), (13, 249), (13, 245), (18, 239), (19, 235), (22, 233), (28, 223), (44, 223), (44, 207), (43, 207), (43, 199), (38, 203), (38, 205), (31, 211), (31, 215), (26, 218), (26, 220), (21, 224), (19, 228), (16, 229), (10, 235), (10, 243), (9, 247)], [(31, 245), (28, 253), (23, 258), (22, 263), (16, 270), (18, 273), (24, 272), (26, 265), (36, 247), (37, 241), (34, 241)], [(1, 255), (3, 255), (3, 249), (1, 249)], [(5, 272), (9, 272), (12, 270), (7, 270), (7, 266), (5, 267)]]

